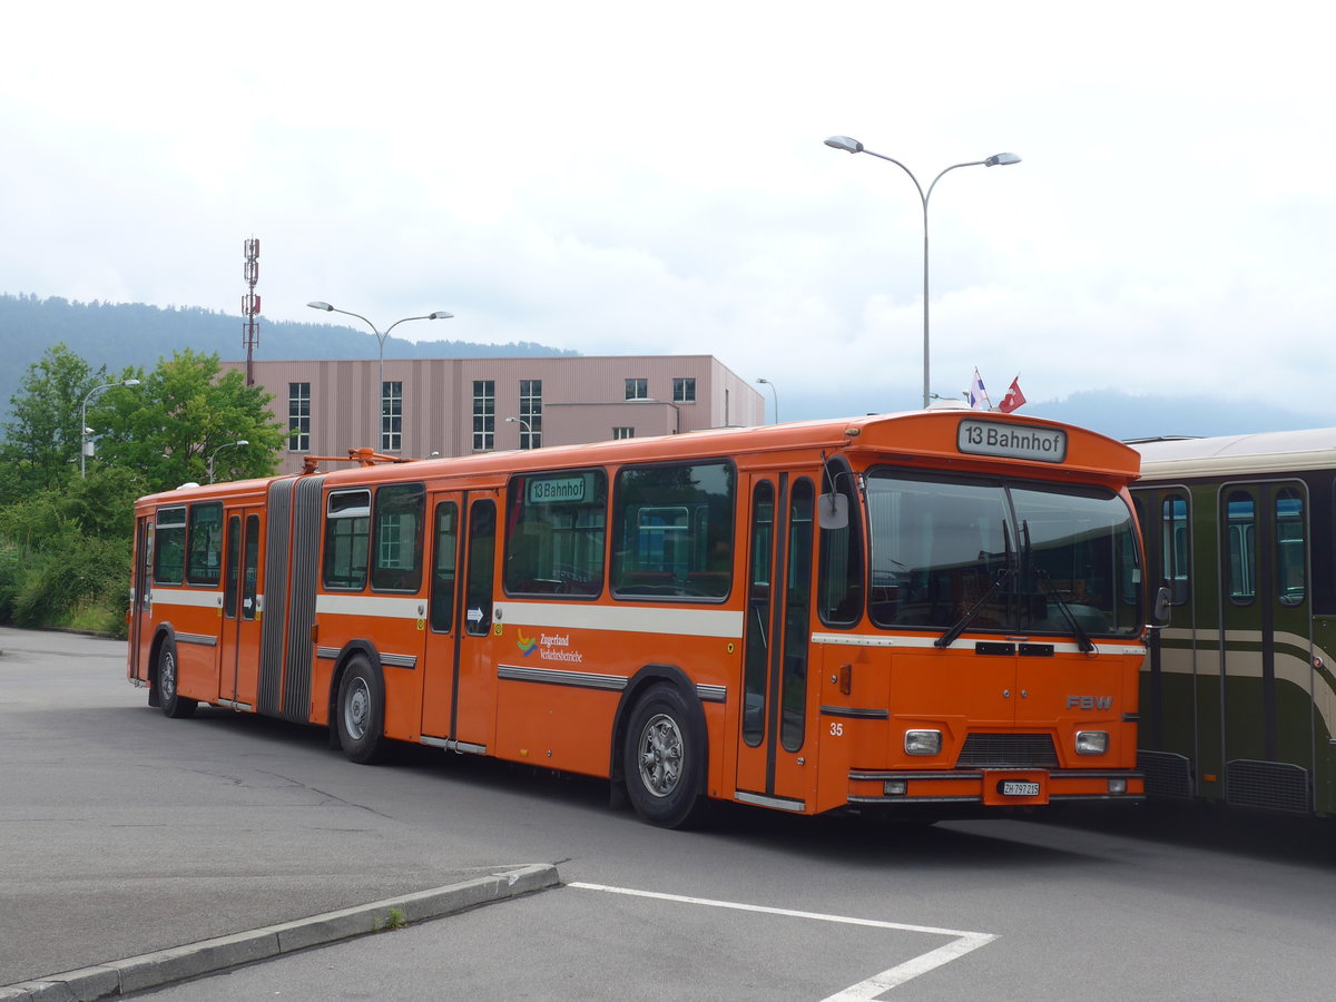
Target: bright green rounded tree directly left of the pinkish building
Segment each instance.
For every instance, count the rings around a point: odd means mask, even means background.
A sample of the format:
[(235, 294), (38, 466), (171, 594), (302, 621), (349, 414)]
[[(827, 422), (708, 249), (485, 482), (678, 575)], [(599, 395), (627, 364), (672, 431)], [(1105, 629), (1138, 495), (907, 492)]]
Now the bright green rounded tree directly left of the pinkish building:
[[(190, 349), (162, 359), (139, 377), (138, 397), (108, 403), (103, 462), (139, 470), (151, 490), (206, 482), (215, 453), (216, 480), (273, 474), (285, 434), (269, 410), (274, 395), (238, 370), (220, 373), (218, 355)], [(248, 445), (219, 449), (240, 440)]]

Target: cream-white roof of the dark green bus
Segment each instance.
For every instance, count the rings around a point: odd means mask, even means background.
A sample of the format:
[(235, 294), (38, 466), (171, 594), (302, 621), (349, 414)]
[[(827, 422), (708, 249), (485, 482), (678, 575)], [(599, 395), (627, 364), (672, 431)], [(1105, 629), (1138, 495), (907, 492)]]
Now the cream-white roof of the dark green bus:
[(1336, 428), (1214, 438), (1154, 438), (1130, 444), (1150, 478), (1267, 473), (1336, 466)]

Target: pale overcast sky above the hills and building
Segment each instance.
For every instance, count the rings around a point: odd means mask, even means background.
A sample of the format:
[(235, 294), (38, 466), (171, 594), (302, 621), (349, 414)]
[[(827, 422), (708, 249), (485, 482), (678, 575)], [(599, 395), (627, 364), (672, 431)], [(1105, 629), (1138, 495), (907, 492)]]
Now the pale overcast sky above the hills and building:
[(912, 407), (922, 203), (844, 134), (925, 188), (1023, 158), (933, 192), (935, 393), (977, 366), (994, 401), (1019, 374), (1332, 424), (1320, 9), (11, 5), (0, 291), (238, 314), (257, 236), (262, 330), (449, 310), (395, 334), (713, 354), (784, 420)]

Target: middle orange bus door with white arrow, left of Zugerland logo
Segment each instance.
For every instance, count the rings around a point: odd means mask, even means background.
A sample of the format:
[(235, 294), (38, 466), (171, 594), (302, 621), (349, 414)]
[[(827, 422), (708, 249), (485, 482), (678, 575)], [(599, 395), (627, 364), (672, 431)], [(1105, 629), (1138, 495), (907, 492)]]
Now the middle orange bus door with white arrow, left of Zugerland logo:
[[(492, 737), (486, 639), (492, 635), (496, 501), (468, 494), (432, 500), (432, 613), (422, 679), (422, 735), (484, 751)], [(464, 712), (461, 712), (461, 709)]]

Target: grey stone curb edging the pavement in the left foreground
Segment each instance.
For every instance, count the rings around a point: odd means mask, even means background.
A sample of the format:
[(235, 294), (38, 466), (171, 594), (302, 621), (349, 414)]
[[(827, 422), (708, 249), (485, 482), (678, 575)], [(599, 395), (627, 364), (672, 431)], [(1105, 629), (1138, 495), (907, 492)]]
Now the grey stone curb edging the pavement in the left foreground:
[(202, 974), (215, 974), (227, 967), (367, 935), (377, 931), (377, 923), (386, 919), (391, 908), (403, 912), (405, 922), (422, 922), (542, 891), (558, 883), (554, 866), (525, 866), (464, 883), (254, 929), (248, 933), (203, 939), (187, 946), (127, 957), (123, 961), (80, 967), (64, 974), (49, 974), (17, 985), (4, 985), (0, 986), (0, 999), (94, 1002), (100, 998), (128, 995)]

